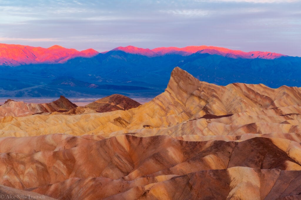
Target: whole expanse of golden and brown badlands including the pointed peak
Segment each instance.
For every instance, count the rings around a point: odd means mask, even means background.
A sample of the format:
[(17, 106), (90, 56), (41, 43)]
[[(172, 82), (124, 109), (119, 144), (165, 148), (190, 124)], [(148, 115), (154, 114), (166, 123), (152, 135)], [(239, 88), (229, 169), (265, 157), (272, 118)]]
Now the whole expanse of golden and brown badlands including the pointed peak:
[[(301, 88), (175, 68), (151, 102), (111, 100), (2, 118), (0, 184), (55, 199), (300, 198)], [(93, 110), (103, 104), (119, 109)]]

